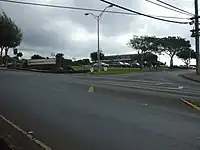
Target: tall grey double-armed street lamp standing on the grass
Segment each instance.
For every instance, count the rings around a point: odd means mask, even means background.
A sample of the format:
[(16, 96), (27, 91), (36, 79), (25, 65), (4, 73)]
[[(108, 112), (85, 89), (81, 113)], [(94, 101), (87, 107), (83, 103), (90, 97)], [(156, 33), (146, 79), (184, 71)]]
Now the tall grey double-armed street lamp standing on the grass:
[(98, 60), (98, 72), (100, 72), (100, 47), (99, 47), (99, 21), (106, 11), (106, 9), (113, 7), (113, 5), (109, 5), (105, 7), (99, 15), (95, 15), (93, 13), (85, 13), (85, 16), (92, 15), (97, 20), (97, 60)]

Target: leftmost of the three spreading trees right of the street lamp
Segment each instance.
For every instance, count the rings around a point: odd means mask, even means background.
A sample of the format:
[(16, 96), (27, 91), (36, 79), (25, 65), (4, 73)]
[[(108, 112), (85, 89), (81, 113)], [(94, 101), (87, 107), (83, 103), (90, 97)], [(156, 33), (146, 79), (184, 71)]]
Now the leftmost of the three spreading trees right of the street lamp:
[(128, 45), (137, 51), (138, 59), (141, 68), (143, 67), (144, 63), (144, 53), (154, 51), (156, 37), (152, 36), (133, 36), (132, 39), (129, 40)]

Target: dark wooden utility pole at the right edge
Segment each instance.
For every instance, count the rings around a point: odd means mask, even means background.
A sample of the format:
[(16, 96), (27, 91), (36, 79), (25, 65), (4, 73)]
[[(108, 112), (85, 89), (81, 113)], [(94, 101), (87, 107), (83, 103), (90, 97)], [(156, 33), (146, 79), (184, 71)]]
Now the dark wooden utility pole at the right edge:
[(196, 73), (200, 74), (200, 55), (199, 55), (199, 15), (198, 15), (198, 0), (194, 0), (195, 7), (195, 45), (196, 45)]

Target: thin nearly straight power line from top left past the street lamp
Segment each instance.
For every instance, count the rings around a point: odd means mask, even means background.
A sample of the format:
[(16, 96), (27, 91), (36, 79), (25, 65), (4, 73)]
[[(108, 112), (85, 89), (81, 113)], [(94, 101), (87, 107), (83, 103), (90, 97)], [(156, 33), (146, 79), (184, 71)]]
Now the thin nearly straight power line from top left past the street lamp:
[[(7, 3), (13, 3), (13, 4), (22, 4), (22, 5), (32, 5), (32, 6), (51, 7), (51, 8), (102, 12), (102, 10), (100, 10), (100, 9), (91, 9), (91, 8), (83, 8), (83, 7), (70, 7), (70, 6), (62, 6), (62, 5), (51, 5), (51, 4), (32, 3), (32, 2), (20, 2), (20, 1), (14, 1), (14, 0), (0, 0), (0, 1), (7, 2)], [(105, 11), (105, 12), (106, 13), (114, 13), (114, 14), (122, 14), (122, 15), (138, 15), (137, 13), (127, 13), (127, 12), (121, 12), (121, 11)], [(161, 17), (161, 18), (171, 18), (171, 19), (190, 19), (190, 18), (173, 17), (173, 16), (157, 16), (157, 15), (152, 15), (152, 16), (153, 17)]]

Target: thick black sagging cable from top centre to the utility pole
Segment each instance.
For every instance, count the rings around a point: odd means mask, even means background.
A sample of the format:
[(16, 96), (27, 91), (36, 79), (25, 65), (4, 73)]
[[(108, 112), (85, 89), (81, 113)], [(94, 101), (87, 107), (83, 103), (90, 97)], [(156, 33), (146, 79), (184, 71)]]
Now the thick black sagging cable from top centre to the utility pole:
[(140, 13), (140, 12), (137, 12), (137, 11), (134, 11), (134, 10), (131, 10), (131, 9), (122, 7), (122, 6), (120, 6), (120, 5), (117, 5), (117, 4), (108, 2), (108, 1), (106, 1), (106, 0), (100, 0), (100, 1), (102, 1), (102, 2), (104, 2), (104, 3), (107, 3), (107, 4), (109, 4), (109, 5), (113, 5), (113, 6), (115, 6), (115, 7), (121, 8), (121, 9), (123, 9), (123, 10), (129, 11), (129, 12), (133, 12), (133, 13), (136, 13), (136, 14), (138, 14), (138, 15), (145, 16), (145, 17), (149, 17), (149, 18), (152, 18), (152, 19), (156, 19), (156, 20), (160, 20), (160, 21), (165, 21), (165, 22), (171, 22), (171, 23), (178, 23), (178, 24), (189, 24), (189, 22), (180, 22), (180, 21), (167, 20), (167, 19), (162, 19), (162, 18), (158, 18), (158, 17), (151, 16), (151, 15), (147, 15), (147, 14), (144, 14), (144, 13)]

